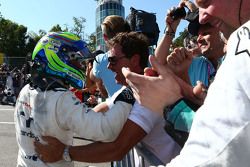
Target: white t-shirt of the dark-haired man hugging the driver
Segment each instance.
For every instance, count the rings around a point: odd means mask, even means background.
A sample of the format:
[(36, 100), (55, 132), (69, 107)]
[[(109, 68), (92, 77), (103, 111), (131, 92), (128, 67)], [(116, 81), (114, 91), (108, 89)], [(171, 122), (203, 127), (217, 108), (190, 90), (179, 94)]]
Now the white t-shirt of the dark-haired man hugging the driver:
[[(115, 106), (113, 101), (125, 88), (125, 86), (122, 87), (107, 101), (109, 107)], [(147, 133), (141, 142), (163, 163), (169, 162), (180, 153), (180, 146), (165, 132), (165, 120), (159, 114), (135, 102), (128, 119), (136, 123)]]

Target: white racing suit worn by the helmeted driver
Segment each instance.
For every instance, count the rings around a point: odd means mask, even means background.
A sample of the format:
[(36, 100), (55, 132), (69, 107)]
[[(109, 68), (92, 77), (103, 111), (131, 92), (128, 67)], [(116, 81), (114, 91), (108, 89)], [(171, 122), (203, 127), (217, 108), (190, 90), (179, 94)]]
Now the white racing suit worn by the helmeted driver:
[(69, 90), (61, 88), (42, 92), (26, 85), (19, 94), (14, 114), (19, 147), (17, 166), (73, 166), (64, 160), (44, 164), (34, 150), (34, 140), (54, 136), (64, 144), (72, 145), (76, 133), (95, 141), (113, 141), (131, 108), (132, 105), (117, 101), (106, 113), (96, 113), (87, 109)]

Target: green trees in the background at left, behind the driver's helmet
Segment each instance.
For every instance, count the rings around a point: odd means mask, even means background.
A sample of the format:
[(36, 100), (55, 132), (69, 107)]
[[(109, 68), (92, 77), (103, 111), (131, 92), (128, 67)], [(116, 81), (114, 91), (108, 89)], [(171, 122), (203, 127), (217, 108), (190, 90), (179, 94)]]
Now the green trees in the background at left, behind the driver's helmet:
[[(0, 4), (1, 5), (1, 4)], [(74, 25), (72, 28), (65, 26), (64, 29), (59, 24), (56, 24), (51, 28), (53, 32), (59, 31), (69, 31), (78, 35), (81, 39), (84, 39), (84, 28), (86, 19), (83, 17), (76, 18), (73, 17)], [(31, 55), (37, 42), (41, 39), (42, 36), (47, 34), (45, 30), (39, 30), (38, 34), (33, 31), (27, 32), (27, 27), (23, 25), (18, 25), (10, 20), (4, 19), (1, 16), (0, 12), (0, 53), (5, 53), (7, 57), (27, 57)], [(91, 51), (96, 50), (96, 37), (95, 33), (87, 36), (84, 39)], [(25, 59), (18, 59), (25, 63)], [(10, 59), (11, 66), (17, 66), (16, 59)]]

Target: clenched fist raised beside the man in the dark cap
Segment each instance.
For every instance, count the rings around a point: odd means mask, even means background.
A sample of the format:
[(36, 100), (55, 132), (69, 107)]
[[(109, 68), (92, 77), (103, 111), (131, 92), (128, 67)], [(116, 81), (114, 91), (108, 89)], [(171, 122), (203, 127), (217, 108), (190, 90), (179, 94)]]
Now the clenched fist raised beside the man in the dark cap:
[(192, 59), (191, 52), (183, 47), (179, 47), (175, 48), (174, 51), (167, 56), (166, 61), (175, 75), (189, 83), (188, 68), (192, 63)]

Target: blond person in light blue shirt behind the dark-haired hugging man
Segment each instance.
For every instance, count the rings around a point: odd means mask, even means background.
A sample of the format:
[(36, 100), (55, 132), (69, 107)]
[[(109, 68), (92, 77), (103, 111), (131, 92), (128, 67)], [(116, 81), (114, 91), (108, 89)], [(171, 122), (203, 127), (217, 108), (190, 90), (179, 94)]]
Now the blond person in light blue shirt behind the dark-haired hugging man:
[[(119, 32), (129, 32), (130, 27), (126, 20), (121, 16), (110, 15), (107, 16), (101, 24), (103, 39), (108, 43), (108, 40), (114, 37)], [(111, 97), (121, 85), (115, 83), (114, 73), (107, 68), (109, 51), (105, 54), (100, 54), (96, 57), (91, 70), (91, 79), (96, 81), (101, 92), (104, 88), (107, 91), (108, 97)], [(105, 94), (105, 93), (102, 93)]]

